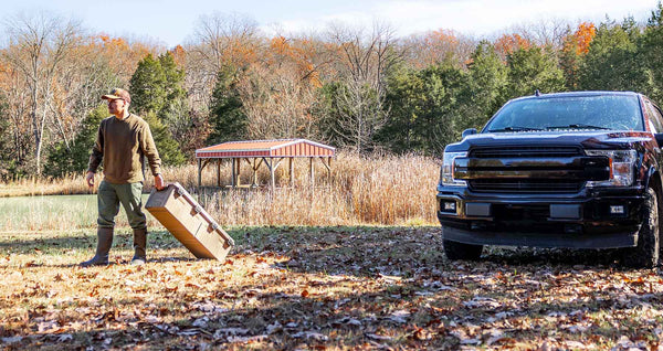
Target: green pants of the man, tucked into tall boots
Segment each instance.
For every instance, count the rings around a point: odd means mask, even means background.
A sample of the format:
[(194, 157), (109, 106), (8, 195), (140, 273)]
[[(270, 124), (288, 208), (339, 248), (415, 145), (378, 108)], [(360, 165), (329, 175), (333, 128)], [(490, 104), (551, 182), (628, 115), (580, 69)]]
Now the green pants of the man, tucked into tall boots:
[(125, 209), (129, 225), (134, 230), (147, 228), (145, 213), (143, 213), (143, 182), (128, 184), (113, 184), (102, 181), (97, 194), (99, 227), (114, 227), (115, 216), (119, 213), (119, 204)]

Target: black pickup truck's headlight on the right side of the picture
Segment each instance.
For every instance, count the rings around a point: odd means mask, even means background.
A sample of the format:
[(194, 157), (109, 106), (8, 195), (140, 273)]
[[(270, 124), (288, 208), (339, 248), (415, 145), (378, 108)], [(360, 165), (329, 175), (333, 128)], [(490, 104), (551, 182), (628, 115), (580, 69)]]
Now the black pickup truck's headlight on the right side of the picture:
[(606, 156), (610, 159), (610, 179), (588, 181), (587, 187), (629, 187), (633, 184), (635, 150), (586, 150), (588, 156)]

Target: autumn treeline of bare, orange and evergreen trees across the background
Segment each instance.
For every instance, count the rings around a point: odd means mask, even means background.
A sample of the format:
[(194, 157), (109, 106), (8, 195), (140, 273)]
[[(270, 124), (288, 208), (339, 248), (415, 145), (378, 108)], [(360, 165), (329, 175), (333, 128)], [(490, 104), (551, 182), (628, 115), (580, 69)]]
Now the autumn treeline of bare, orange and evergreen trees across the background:
[(438, 156), (507, 99), (577, 89), (663, 102), (663, 7), (633, 18), (548, 21), (475, 39), (388, 24), (266, 36), (241, 15), (202, 17), (172, 49), (90, 33), (49, 13), (7, 18), (0, 47), (0, 179), (86, 168), (99, 96), (131, 93), (167, 164), (241, 139), (308, 138), (357, 152)]

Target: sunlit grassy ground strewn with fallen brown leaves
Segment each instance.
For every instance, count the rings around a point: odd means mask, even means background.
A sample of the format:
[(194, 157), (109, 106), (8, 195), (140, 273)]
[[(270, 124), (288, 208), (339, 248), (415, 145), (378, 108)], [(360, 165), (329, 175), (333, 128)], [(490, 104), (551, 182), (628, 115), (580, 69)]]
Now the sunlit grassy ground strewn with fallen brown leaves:
[(229, 232), (225, 262), (154, 233), (143, 267), (120, 232), (95, 268), (91, 233), (0, 234), (0, 348), (663, 349), (663, 279), (611, 252), (452, 263), (436, 227)]

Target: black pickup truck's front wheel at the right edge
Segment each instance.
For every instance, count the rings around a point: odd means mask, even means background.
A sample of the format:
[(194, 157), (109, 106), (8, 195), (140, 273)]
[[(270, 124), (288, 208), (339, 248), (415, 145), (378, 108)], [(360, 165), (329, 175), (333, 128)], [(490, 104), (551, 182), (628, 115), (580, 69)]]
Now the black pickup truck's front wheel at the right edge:
[(634, 268), (652, 268), (659, 264), (659, 203), (654, 189), (646, 190), (644, 217), (638, 233), (638, 246), (623, 252), (624, 265)]

